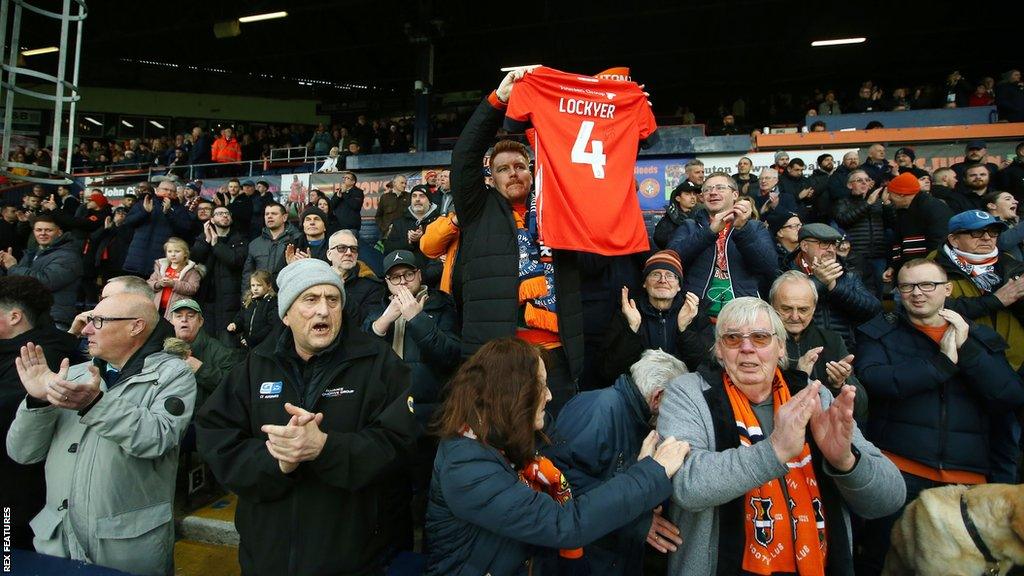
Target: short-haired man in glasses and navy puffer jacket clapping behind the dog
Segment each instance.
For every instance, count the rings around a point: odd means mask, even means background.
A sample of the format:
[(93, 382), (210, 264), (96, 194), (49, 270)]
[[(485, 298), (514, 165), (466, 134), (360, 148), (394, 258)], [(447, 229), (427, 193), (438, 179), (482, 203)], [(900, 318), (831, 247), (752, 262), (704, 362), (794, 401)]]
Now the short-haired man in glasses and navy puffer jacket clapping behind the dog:
[[(907, 502), (938, 486), (1015, 482), (1011, 411), (1024, 384), (1006, 342), (946, 307), (952, 288), (933, 260), (904, 263), (896, 288), (895, 322), (880, 315), (858, 329), (855, 369), (870, 399), (867, 436), (902, 472)], [(858, 574), (879, 573), (901, 511), (861, 531)]]

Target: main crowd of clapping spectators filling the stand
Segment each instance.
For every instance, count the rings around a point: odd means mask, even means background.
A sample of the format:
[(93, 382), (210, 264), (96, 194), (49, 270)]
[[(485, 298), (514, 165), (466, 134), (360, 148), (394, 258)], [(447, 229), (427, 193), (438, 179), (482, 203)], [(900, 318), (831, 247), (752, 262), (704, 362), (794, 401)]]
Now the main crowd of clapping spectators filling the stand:
[(247, 574), (379, 572), (415, 527), (427, 574), (877, 574), (923, 490), (1020, 481), (1024, 142), (693, 160), (649, 253), (549, 252), (495, 143), (522, 74), (372, 223), (348, 171), (297, 210), (173, 175), (4, 203), (13, 544), (170, 573), (198, 451)]

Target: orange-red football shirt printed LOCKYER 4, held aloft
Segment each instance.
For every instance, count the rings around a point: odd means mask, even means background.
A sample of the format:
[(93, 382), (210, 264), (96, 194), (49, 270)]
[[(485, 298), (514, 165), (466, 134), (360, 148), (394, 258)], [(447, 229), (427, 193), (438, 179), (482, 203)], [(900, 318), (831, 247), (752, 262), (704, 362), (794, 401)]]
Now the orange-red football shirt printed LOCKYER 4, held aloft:
[(634, 169), (657, 124), (635, 82), (541, 67), (516, 83), (506, 117), (534, 128), (544, 245), (608, 256), (650, 248)]

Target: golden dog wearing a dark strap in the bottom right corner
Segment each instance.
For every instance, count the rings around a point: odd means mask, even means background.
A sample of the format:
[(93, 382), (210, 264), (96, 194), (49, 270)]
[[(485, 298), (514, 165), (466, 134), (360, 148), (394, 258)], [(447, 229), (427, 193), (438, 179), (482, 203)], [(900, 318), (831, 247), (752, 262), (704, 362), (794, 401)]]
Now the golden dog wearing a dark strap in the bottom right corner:
[(925, 490), (893, 527), (884, 576), (981, 576), (985, 559), (961, 516), (961, 495), (998, 574), (1024, 566), (1024, 486), (988, 484)]

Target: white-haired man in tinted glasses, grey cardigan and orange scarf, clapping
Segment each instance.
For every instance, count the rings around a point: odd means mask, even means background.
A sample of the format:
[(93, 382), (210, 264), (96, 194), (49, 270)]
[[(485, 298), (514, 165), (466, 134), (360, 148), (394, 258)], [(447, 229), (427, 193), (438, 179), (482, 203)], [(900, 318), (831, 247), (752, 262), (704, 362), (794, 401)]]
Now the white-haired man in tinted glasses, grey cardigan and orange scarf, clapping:
[(854, 386), (833, 396), (790, 370), (782, 320), (760, 298), (727, 303), (717, 365), (667, 386), (657, 431), (685, 438), (669, 520), (671, 574), (852, 574), (850, 515), (903, 503), (896, 467), (853, 419)]

